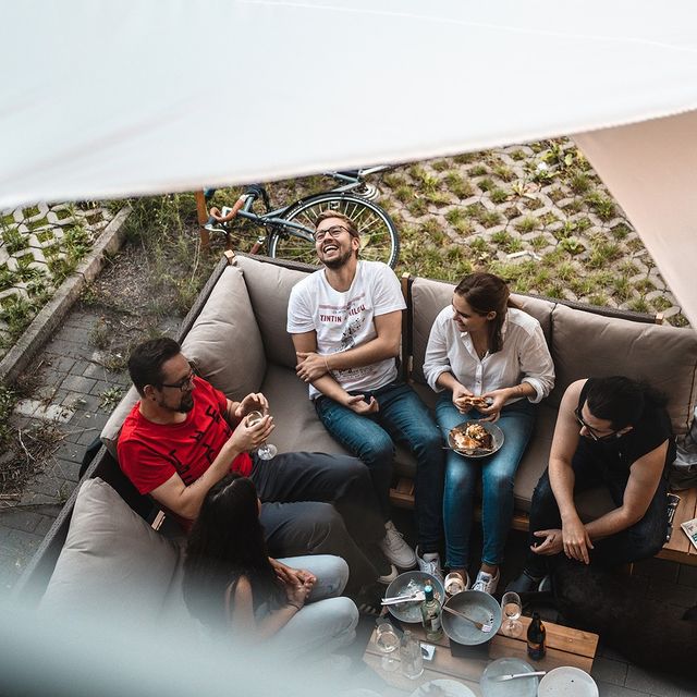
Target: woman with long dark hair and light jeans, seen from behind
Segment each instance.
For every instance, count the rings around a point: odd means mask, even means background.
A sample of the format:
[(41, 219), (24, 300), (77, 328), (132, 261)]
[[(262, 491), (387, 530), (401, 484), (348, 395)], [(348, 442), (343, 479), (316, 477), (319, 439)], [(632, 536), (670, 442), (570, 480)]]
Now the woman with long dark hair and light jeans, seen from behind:
[(303, 568), (281, 577), (269, 561), (252, 479), (236, 473), (213, 485), (186, 545), (184, 599), (191, 614), (245, 646), (326, 657), (355, 638), (356, 606), (339, 597), (348, 578), (340, 557), (282, 560)]

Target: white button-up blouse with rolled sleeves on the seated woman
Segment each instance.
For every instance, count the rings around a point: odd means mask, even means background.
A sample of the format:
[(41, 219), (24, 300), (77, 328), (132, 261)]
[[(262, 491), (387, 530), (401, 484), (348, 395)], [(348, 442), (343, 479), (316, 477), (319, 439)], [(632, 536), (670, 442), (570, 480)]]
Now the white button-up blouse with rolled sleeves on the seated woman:
[[(501, 328), (502, 346), (497, 353), (479, 358), (468, 332), (461, 332), (453, 320), (453, 308), (443, 308), (433, 326), (426, 348), (424, 375), (436, 392), (438, 377), (450, 371), (473, 394), (529, 382), (536, 404), (554, 387), (554, 364), (549, 354), (540, 323), (527, 313), (510, 307)], [(524, 398), (509, 400), (509, 404)]]

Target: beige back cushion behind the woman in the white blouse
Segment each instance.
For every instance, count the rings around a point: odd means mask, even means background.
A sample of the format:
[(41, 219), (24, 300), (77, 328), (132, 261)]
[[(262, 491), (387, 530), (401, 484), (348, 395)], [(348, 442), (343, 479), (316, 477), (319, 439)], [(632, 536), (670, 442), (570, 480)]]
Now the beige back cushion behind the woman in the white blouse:
[[(444, 281), (431, 281), (430, 279), (414, 279), (412, 284), (412, 306), (413, 306), (413, 356), (414, 370), (412, 377), (419, 382), (426, 382), (424, 378), (424, 360), (426, 358), (426, 346), (431, 326), (438, 313), (443, 307), (450, 305), (453, 298), (453, 283)], [(551, 315), (553, 303), (539, 297), (513, 294), (514, 299), (526, 313), (535, 317), (542, 327), (542, 332), (547, 343), (550, 342)]]

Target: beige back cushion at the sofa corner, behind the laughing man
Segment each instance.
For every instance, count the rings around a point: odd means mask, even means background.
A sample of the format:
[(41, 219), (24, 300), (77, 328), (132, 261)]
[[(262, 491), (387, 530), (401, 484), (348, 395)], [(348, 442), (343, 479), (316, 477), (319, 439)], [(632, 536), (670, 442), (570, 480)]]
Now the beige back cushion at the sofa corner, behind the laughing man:
[(269, 362), (295, 369), (293, 340), (285, 331), (288, 298), (307, 273), (242, 256), (236, 257), (236, 264), (244, 273)]

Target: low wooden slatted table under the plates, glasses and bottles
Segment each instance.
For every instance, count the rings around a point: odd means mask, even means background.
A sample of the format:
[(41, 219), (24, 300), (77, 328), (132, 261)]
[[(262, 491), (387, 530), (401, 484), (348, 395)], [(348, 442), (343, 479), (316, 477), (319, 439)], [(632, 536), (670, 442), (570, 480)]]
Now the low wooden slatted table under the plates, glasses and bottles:
[[(527, 644), (525, 636), (530, 617), (521, 617), (523, 632), (519, 638), (512, 638), (503, 635), (501, 631), (489, 643), (489, 656), (473, 658), (456, 658), (450, 651), (450, 640), (443, 638), (437, 643), (436, 655), (432, 661), (424, 661), (424, 674), (409, 680), (404, 677), (401, 671), (383, 671), (381, 668), (382, 656), (375, 645), (375, 631), (368, 646), (366, 647), (363, 660), (372, 668), (390, 685), (405, 692), (413, 692), (423, 683), (431, 680), (450, 678), (457, 680), (469, 687), (475, 695), (480, 696), (479, 678), (485, 668), (497, 658), (519, 658), (527, 661), (535, 670), (551, 671), (559, 665), (574, 665), (590, 673), (592, 660), (598, 647), (598, 635), (590, 632), (580, 632), (564, 627), (552, 622), (545, 622), (547, 628), (547, 656), (541, 661), (531, 661), (527, 658)], [(426, 641), (424, 631), (420, 625), (412, 624), (405, 628), (421, 641)], [(399, 661), (399, 651), (392, 653)]]

